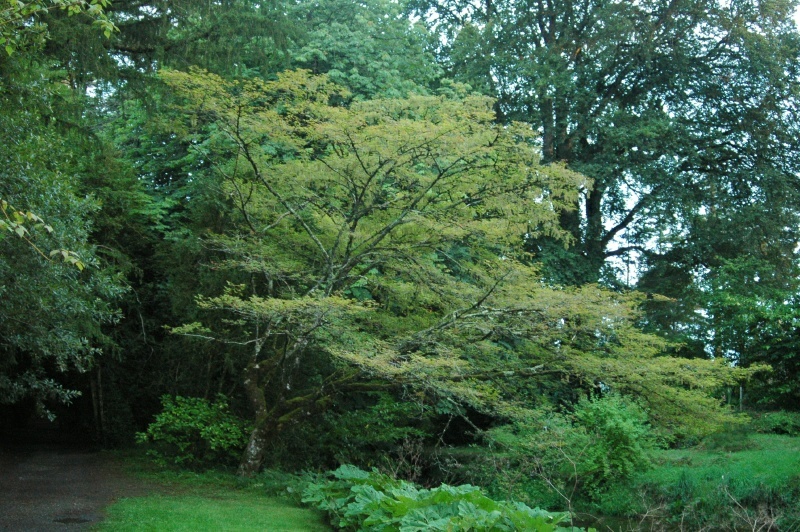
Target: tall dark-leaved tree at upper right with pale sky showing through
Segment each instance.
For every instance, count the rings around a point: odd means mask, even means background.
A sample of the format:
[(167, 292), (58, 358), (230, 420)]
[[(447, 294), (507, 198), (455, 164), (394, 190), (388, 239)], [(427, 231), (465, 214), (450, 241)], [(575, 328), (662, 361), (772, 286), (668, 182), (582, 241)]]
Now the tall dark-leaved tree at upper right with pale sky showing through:
[[(760, 232), (785, 259), (800, 168), (796, 2), (415, 6), (445, 36), (451, 75), (496, 96), (501, 119), (533, 123), (545, 161), (593, 179), (581, 209), (562, 218), (571, 258), (531, 243), (555, 280), (597, 280), (608, 259), (629, 253), (653, 264), (676, 246), (665, 235), (685, 236), (715, 211), (733, 228), (744, 206), (745, 217), (769, 221)], [(571, 275), (554, 271), (559, 260)]]

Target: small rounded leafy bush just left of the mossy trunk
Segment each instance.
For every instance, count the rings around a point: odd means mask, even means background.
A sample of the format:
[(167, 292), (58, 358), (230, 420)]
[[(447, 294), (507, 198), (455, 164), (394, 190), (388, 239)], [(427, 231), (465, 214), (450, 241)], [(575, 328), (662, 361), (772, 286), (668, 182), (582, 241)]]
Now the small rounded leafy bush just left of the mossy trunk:
[(238, 461), (249, 428), (230, 412), (224, 395), (213, 402), (165, 395), (161, 404), (147, 431), (136, 435), (139, 443), (150, 444), (148, 455), (158, 463), (201, 468)]

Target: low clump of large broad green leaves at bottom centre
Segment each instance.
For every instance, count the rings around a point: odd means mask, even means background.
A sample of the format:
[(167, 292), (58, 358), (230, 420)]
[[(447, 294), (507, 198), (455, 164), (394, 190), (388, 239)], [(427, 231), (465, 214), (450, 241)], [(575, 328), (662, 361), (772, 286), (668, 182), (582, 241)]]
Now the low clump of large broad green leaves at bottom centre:
[(373, 470), (342, 466), (310, 482), (303, 501), (328, 512), (341, 530), (566, 530), (567, 513), (498, 502), (470, 485), (421, 489)]

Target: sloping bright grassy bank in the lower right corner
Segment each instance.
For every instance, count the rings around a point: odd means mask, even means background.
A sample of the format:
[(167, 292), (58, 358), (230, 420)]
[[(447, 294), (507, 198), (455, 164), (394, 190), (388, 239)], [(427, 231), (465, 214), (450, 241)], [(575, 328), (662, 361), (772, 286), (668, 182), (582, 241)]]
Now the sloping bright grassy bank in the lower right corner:
[(664, 526), (690, 529), (800, 530), (800, 438), (730, 432), (661, 451), (652, 469), (612, 487), (597, 511), (652, 513)]

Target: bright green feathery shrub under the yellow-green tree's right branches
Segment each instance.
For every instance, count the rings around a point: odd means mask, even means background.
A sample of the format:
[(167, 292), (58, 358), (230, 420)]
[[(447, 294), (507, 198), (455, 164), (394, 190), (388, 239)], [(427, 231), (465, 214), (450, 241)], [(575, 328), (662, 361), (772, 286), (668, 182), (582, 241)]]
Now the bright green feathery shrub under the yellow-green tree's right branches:
[(581, 399), (573, 412), (533, 412), (484, 433), (488, 451), (454, 455), (459, 478), (496, 496), (572, 508), (600, 501), (647, 470), (659, 447), (646, 412), (618, 394)]

